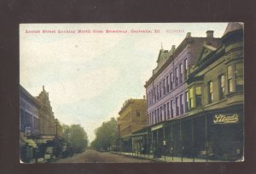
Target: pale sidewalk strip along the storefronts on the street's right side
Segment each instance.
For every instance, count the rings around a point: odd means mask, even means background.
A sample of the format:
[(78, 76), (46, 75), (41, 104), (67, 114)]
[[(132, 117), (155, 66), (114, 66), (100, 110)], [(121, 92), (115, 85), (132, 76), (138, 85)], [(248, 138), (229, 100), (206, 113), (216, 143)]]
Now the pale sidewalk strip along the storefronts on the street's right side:
[(128, 152), (111, 152), (113, 154), (131, 156), (138, 159), (153, 160), (154, 162), (224, 162), (222, 160), (206, 160), (195, 158), (194, 161), (192, 158), (181, 158), (177, 156), (162, 156), (161, 158), (153, 158), (153, 154), (137, 154), (137, 153), (128, 153)]

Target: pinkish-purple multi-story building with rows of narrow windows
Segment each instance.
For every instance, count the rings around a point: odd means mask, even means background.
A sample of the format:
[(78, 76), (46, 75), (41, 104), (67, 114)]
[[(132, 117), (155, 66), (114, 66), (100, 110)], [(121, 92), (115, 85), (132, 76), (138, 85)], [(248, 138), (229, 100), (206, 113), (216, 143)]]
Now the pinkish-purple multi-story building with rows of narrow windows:
[[(157, 67), (144, 86), (147, 94), (148, 126), (152, 134), (150, 142), (155, 147), (161, 147), (165, 139), (172, 136), (166, 122), (176, 121), (188, 115), (187, 75), (205, 42), (216, 47), (219, 38), (213, 37), (213, 31), (207, 31), (206, 37), (194, 37), (188, 32), (177, 48), (172, 46), (170, 51), (160, 49)], [(174, 136), (178, 134), (179, 132), (176, 132)], [(178, 149), (182, 148), (181, 143), (173, 144), (173, 138), (172, 148), (178, 152)]]

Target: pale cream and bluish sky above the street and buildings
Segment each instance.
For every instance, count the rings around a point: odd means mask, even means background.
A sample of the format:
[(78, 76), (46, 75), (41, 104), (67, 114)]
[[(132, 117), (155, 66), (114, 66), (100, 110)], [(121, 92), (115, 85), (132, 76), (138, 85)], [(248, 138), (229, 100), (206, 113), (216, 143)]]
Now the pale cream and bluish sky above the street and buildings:
[[(117, 118), (126, 99), (143, 98), (143, 86), (152, 76), (161, 47), (177, 48), (187, 32), (206, 36), (211, 30), (215, 37), (221, 37), (226, 26), (20, 24), (20, 85), (32, 96), (38, 96), (44, 86), (55, 118), (66, 125), (80, 124), (91, 142), (96, 127)], [(132, 32), (145, 30), (151, 32)]]

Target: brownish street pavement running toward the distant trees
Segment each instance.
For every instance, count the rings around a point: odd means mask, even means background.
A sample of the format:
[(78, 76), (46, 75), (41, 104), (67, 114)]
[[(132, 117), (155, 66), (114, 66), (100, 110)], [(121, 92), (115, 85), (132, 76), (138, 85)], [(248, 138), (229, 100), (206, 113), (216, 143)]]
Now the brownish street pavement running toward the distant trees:
[(82, 154), (75, 154), (72, 157), (55, 160), (53, 163), (150, 163), (152, 160), (137, 159), (132, 156), (112, 154), (109, 152), (98, 152), (87, 149)]

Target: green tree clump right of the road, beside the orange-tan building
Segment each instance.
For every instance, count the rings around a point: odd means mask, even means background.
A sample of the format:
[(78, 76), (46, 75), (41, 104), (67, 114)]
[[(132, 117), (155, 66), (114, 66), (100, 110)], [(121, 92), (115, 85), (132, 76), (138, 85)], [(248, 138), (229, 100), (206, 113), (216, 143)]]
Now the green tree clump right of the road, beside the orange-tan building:
[(116, 144), (118, 138), (118, 124), (114, 118), (108, 122), (103, 122), (102, 126), (96, 128), (96, 139), (91, 142), (94, 149), (109, 150)]

